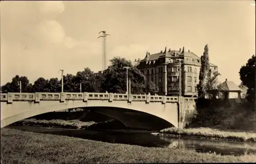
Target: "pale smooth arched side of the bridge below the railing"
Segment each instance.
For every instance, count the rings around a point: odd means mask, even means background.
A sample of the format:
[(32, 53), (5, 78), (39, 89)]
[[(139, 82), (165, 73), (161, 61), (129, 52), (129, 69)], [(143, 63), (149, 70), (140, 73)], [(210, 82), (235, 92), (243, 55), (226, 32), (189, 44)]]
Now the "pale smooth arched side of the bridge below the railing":
[[(120, 120), (120, 112), (110, 112), (110, 110), (104, 109), (107, 108), (116, 108), (117, 110), (123, 111), (123, 109), (129, 109), (132, 111), (138, 111), (147, 113), (150, 115), (154, 115), (157, 118), (165, 120), (170, 123), (170, 125), (176, 126), (178, 125), (178, 111), (177, 111), (177, 103), (166, 103), (162, 104), (160, 102), (153, 102), (150, 104), (146, 104), (145, 102), (132, 102), (127, 103), (127, 101), (66, 101), (64, 103), (60, 103), (58, 101), (41, 101), (40, 103), (26, 102), (26, 101), (14, 101), (12, 104), (7, 104), (6, 102), (1, 102), (1, 128), (7, 125), (10, 125), (14, 122), (30, 118), (35, 115), (39, 115), (42, 113), (48, 113), (58, 110), (66, 110), (70, 108), (84, 108), (84, 107), (101, 107), (102, 109), (99, 111), (102, 114), (110, 114), (114, 115), (114, 118), (118, 118)], [(119, 113), (119, 115), (118, 115)], [(4, 116), (4, 117), (3, 117)], [(120, 120), (126, 126), (136, 126), (135, 124), (140, 124), (140, 122), (125, 122), (123, 120), (123, 116)], [(126, 120), (127, 121), (127, 120)]]

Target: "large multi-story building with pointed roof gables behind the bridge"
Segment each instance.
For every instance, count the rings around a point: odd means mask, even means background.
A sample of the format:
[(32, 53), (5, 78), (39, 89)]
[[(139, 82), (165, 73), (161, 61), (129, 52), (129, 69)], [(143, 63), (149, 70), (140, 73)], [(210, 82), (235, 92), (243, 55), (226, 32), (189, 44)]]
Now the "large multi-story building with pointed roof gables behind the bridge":
[[(179, 95), (179, 61), (181, 64), (181, 91), (182, 96), (197, 96), (197, 84), (199, 83), (199, 72), (201, 59), (193, 52), (165, 50), (160, 53), (146, 53), (144, 59), (137, 61), (137, 68), (145, 75), (145, 85), (152, 81), (159, 88), (158, 95)], [(214, 73), (218, 67), (210, 63), (211, 72)]]

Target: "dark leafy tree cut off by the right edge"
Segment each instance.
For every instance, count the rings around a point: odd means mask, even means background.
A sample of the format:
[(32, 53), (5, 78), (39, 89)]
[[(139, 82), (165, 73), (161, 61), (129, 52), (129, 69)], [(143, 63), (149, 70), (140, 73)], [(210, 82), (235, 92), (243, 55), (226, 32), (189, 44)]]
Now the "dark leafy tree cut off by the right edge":
[(248, 102), (255, 101), (255, 55), (252, 55), (250, 59), (248, 59), (246, 65), (243, 65), (239, 71), (240, 80), (243, 85), (245, 85), (247, 89), (247, 97)]

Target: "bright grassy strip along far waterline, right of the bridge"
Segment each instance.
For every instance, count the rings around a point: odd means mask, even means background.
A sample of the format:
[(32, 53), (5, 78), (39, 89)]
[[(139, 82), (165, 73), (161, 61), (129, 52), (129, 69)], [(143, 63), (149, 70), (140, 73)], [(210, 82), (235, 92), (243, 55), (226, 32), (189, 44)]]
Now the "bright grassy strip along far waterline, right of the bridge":
[(163, 129), (159, 133), (181, 135), (186, 137), (199, 137), (209, 139), (222, 139), (222, 140), (236, 140), (239, 142), (256, 142), (256, 133), (253, 132), (236, 132), (236, 131), (220, 131), (218, 129), (211, 128), (167, 128)]

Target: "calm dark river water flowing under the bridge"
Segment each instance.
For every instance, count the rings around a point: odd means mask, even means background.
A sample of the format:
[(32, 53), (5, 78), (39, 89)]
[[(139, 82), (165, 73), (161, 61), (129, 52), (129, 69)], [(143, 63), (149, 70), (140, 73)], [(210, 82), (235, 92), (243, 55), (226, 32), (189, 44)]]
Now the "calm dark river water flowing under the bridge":
[[(104, 132), (35, 126), (8, 126), (7, 128), (54, 135), (66, 135), (108, 143), (139, 145), (144, 147), (174, 147), (178, 145), (177, 137), (156, 136), (150, 133)], [(245, 152), (256, 154), (255, 143), (181, 137), (180, 144), (187, 149), (195, 149), (198, 152), (216, 152), (216, 154), (221, 155), (242, 155)]]

